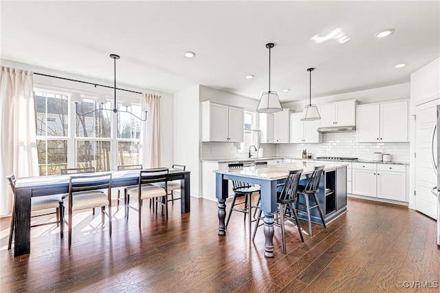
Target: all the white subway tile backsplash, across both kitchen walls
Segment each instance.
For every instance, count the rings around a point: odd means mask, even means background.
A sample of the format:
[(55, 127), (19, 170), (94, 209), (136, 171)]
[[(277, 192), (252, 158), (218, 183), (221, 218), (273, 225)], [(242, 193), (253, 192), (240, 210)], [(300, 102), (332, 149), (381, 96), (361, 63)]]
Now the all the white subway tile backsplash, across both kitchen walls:
[[(202, 160), (248, 158), (248, 151), (239, 151), (231, 142), (202, 142)], [(373, 160), (373, 153), (389, 153), (391, 160), (409, 162), (409, 142), (356, 142), (355, 132), (323, 133), (321, 144), (261, 144), (264, 157), (301, 158), (303, 149), (316, 157), (354, 157)]]

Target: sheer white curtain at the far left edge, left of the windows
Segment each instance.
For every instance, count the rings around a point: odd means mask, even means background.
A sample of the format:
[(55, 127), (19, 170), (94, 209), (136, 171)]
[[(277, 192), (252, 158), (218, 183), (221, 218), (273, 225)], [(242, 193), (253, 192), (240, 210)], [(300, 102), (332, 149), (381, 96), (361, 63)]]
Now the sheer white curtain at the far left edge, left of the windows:
[(39, 175), (32, 72), (1, 66), (0, 121), (0, 215), (8, 215), (12, 192), (6, 175)]

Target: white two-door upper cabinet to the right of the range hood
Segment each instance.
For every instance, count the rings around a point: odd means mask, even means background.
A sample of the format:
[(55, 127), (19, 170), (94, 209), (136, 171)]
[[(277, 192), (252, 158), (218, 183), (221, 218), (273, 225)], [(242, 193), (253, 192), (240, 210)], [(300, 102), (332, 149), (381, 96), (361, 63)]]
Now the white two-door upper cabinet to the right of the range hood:
[(358, 142), (408, 142), (408, 101), (356, 107)]

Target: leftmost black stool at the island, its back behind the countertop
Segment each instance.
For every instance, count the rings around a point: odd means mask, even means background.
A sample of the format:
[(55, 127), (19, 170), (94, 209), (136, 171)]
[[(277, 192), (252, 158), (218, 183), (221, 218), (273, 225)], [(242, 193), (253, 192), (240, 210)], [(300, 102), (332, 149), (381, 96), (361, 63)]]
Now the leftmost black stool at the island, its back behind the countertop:
[[(240, 169), (243, 168), (243, 163), (228, 164), (229, 169)], [(246, 221), (246, 215), (248, 215), (248, 226), (249, 226), (249, 238), (251, 237), (251, 225), (252, 225), (252, 208), (259, 208), (259, 206), (252, 206), (252, 193), (259, 193), (261, 196), (261, 188), (250, 186), (247, 182), (232, 181), (232, 190), (234, 191), (234, 197), (232, 198), (231, 208), (229, 210), (228, 219), (226, 220), (225, 228), (228, 228), (229, 220), (231, 218), (232, 212), (244, 213), (244, 221)], [(236, 202), (237, 197), (245, 197), (244, 202)], [(241, 206), (236, 208), (236, 206)]]

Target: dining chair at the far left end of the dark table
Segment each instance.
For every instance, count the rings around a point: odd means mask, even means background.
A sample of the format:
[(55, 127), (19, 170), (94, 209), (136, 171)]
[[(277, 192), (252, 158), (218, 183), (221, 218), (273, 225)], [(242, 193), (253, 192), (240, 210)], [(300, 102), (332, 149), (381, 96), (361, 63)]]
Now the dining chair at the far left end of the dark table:
[[(11, 186), (12, 189), (12, 215), (11, 215), (11, 225), (10, 225), (10, 230), (9, 230), (9, 239), (8, 239), (8, 250), (11, 249), (12, 247), (12, 236), (14, 235), (15, 232), (15, 205), (14, 205), (14, 199), (15, 199), (15, 182), (17, 182), (17, 180), (15, 179), (14, 174), (8, 175), (6, 176), (6, 179), (8, 180), (9, 185)], [(50, 212), (49, 210), (53, 210), (55, 209), (55, 212)], [(42, 224), (34, 224), (31, 225), (31, 228), (33, 227), (37, 227), (37, 226), (43, 226), (43, 225), (53, 225), (56, 224), (56, 226), (60, 227), (60, 236), (61, 239), (63, 239), (63, 199), (61, 197), (61, 195), (45, 195), (45, 196), (41, 196), (41, 197), (31, 197), (30, 199), (30, 210), (31, 213), (32, 212), (36, 212), (36, 211), (42, 211), (42, 210), (46, 210), (47, 213), (41, 214), (39, 213), (38, 215), (31, 215), (31, 217), (40, 217), (40, 216), (45, 216), (45, 215), (52, 215), (52, 214), (56, 214), (56, 221), (50, 221), (47, 223), (42, 223)], [(35, 214), (35, 213), (34, 213)]]

